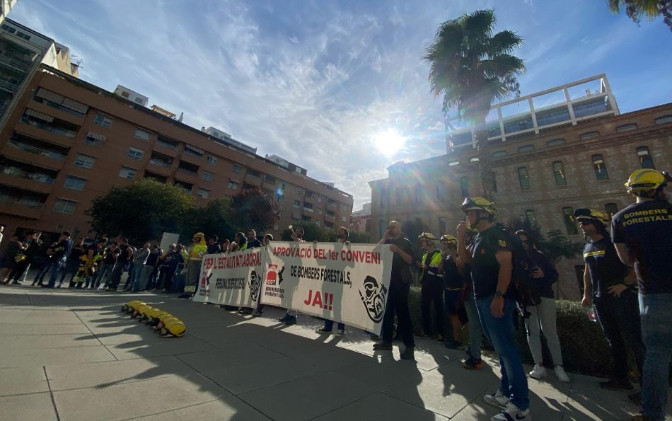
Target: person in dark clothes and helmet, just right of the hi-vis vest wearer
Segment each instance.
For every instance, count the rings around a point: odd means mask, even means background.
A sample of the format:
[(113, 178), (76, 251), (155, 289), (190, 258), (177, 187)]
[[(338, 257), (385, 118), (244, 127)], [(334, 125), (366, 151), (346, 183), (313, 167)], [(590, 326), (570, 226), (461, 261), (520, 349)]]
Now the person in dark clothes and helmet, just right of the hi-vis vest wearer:
[(456, 349), (462, 345), (462, 322), (459, 317), (460, 296), (464, 287), (464, 265), (457, 253), (458, 239), (451, 234), (441, 236), (441, 263), (439, 273), (444, 279), (444, 311), (453, 326), (453, 339), (446, 338), (444, 345)]

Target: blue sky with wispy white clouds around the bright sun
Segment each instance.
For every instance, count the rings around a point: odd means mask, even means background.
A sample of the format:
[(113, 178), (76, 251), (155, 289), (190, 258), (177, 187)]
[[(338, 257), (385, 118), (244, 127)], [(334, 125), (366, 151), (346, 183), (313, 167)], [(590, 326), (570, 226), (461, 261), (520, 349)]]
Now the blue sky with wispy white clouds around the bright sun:
[[(523, 95), (606, 73), (622, 113), (672, 99), (670, 30), (606, 0), (21, 0), (9, 17), (69, 46), (81, 79), (308, 168), (359, 209), (390, 163), (445, 153), (420, 57), (441, 22), (476, 8), (525, 38)], [(383, 154), (390, 132), (405, 142)]]

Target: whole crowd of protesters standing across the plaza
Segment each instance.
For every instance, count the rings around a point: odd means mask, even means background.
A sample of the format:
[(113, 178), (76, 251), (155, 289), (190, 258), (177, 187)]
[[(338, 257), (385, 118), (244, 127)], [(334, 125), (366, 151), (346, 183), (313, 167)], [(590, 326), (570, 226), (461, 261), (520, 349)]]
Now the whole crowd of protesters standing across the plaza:
[[(611, 377), (600, 386), (632, 391), (630, 400), (642, 405), (637, 420), (664, 420), (666, 410), (672, 359), (672, 204), (664, 188), (670, 181), (668, 173), (637, 170), (625, 183), (627, 192), (636, 197), (635, 204), (611, 219), (596, 209), (579, 208), (574, 212), (586, 238), (582, 304), (594, 308), (612, 359)], [(528, 376), (541, 379), (548, 375), (543, 364), (542, 332), (555, 376), (569, 381), (557, 335), (552, 289), (558, 273), (527, 232), (511, 235), (502, 229), (493, 202), (468, 197), (461, 209), (465, 218), (456, 227), (456, 235), (445, 233), (436, 238), (425, 232), (419, 236), (422, 255), (405, 238), (398, 221), (388, 224), (380, 243), (390, 245), (392, 270), (381, 335), (373, 350), (392, 350), (396, 335), (404, 344), (400, 357), (415, 359), (408, 298), (417, 269), (422, 335), (444, 342), (446, 347), (464, 349), (463, 367), (481, 369), (480, 343), (485, 334), (497, 352), (502, 372), (498, 390), (485, 395), (487, 403), (502, 408), (492, 420), (530, 419)], [(301, 227), (290, 229), (293, 241), (306, 241)], [(337, 241), (347, 242), (348, 236), (347, 229), (341, 227)], [(21, 284), (35, 265), (39, 268), (33, 279), (35, 286), (58, 288), (68, 281), (70, 288), (117, 291), (122, 272), (127, 271), (124, 291), (161, 290), (190, 298), (197, 290), (203, 255), (267, 246), (270, 241), (271, 234), (260, 240), (251, 229), (247, 236), (236, 233), (233, 241), (221, 242), (217, 236), (209, 236), (206, 241), (204, 233), (199, 232), (189, 247), (172, 244), (168, 250), (161, 250), (149, 242), (134, 248), (124, 238), (73, 241), (68, 232), (62, 233), (59, 241), (46, 243), (40, 240), (40, 233), (28, 232), (23, 241), (16, 236), (9, 240), (0, 263), (0, 279), (4, 284)], [(262, 311), (260, 305), (241, 308), (239, 313), (259, 316)], [(514, 342), (516, 312), (525, 321), (535, 362), (527, 375)], [(288, 309), (279, 321), (297, 323), (296, 311)], [(333, 325), (334, 321), (325, 320), (316, 332), (331, 333)], [(343, 333), (344, 325), (338, 323), (336, 335)], [(468, 343), (463, 338), (468, 338)], [(635, 355), (641, 391), (633, 391), (628, 352)]]

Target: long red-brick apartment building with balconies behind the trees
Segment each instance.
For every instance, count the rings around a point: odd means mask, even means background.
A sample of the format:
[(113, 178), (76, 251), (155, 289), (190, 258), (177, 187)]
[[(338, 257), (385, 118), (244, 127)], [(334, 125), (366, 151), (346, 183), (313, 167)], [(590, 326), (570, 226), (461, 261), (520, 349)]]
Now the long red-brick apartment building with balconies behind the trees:
[[(163, 111), (163, 113), (161, 112)], [(249, 148), (249, 147), (248, 147)], [(112, 186), (173, 183), (199, 204), (262, 188), (289, 224), (349, 224), (352, 195), (187, 126), (137, 102), (41, 65), (0, 129), (0, 224), (90, 233), (84, 212)]]

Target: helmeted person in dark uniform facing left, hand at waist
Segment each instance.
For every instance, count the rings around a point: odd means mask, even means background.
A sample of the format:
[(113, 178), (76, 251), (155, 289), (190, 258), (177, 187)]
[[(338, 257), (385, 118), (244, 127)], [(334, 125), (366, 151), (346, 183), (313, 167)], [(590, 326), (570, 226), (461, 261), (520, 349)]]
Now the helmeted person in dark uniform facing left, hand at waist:
[(627, 349), (634, 352), (640, 370), (644, 362), (635, 277), (618, 259), (606, 228), (609, 217), (604, 212), (579, 208), (574, 211), (574, 219), (586, 236), (584, 298), (581, 304), (593, 304), (611, 353), (611, 378), (600, 382), (600, 387), (630, 391), (632, 383), (627, 370)]

